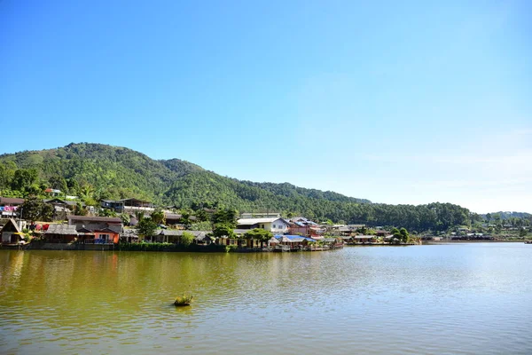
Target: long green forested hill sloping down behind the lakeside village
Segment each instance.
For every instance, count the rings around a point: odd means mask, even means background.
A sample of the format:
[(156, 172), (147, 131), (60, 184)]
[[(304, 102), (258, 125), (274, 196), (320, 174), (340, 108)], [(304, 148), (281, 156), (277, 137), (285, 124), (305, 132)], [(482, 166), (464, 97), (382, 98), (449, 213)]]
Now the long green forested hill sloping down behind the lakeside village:
[(128, 148), (70, 144), (57, 149), (0, 155), (0, 195), (43, 195), (55, 188), (87, 204), (136, 197), (180, 208), (224, 206), (239, 211), (280, 211), (367, 225), (446, 230), (479, 219), (449, 203), (386, 205), (315, 189), (223, 177), (191, 162), (155, 161)]

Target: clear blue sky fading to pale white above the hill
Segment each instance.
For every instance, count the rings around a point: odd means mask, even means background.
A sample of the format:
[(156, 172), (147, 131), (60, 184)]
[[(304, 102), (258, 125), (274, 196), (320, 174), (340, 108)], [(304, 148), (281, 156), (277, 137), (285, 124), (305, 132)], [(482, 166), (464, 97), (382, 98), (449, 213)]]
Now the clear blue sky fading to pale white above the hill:
[(3, 0), (0, 123), (0, 153), (532, 212), (532, 3)]

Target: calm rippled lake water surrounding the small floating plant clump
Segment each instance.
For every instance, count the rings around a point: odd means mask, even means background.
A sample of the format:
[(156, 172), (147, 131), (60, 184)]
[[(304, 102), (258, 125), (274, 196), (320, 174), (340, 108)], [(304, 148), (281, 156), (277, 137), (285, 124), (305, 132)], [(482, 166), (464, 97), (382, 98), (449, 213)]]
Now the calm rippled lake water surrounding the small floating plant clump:
[(0, 352), (530, 354), (532, 245), (0, 250)]

